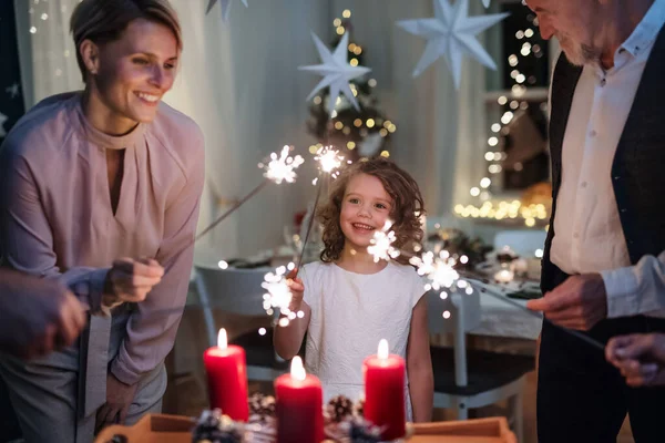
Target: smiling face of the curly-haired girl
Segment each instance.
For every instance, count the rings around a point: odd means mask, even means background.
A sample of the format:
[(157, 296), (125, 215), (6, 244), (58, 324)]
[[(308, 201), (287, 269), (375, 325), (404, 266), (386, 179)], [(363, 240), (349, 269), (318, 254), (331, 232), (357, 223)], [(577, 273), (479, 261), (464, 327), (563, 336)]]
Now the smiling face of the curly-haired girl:
[(362, 173), (354, 176), (347, 185), (339, 214), (345, 248), (366, 250), (374, 233), (386, 225), (392, 205), (380, 179)]

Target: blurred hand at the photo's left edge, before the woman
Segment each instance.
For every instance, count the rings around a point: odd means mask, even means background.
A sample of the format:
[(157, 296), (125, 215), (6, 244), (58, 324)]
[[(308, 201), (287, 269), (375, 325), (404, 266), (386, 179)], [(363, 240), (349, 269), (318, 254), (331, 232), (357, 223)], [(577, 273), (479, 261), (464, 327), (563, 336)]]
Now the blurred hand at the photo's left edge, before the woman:
[(9, 270), (0, 270), (0, 350), (23, 359), (72, 344), (86, 320), (60, 282)]

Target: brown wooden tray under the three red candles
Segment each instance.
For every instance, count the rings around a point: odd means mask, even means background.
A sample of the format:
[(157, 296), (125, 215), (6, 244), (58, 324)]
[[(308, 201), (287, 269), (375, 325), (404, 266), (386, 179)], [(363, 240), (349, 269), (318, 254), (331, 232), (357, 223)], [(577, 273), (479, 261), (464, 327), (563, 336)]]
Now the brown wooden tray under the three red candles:
[[(126, 443), (192, 443), (194, 424), (185, 416), (149, 414), (133, 426), (106, 427), (95, 443), (110, 443), (114, 435), (123, 435)], [(504, 418), (422, 423), (413, 429), (409, 443), (518, 443)]]

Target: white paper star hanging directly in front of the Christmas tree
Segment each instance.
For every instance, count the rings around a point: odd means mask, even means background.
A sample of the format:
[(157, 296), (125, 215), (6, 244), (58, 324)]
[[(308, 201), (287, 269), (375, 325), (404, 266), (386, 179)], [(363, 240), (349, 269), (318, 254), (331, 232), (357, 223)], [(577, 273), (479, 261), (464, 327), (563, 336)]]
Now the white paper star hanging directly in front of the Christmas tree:
[(371, 71), (369, 68), (365, 66), (351, 66), (347, 61), (347, 47), (349, 45), (349, 34), (345, 32), (341, 41), (335, 48), (335, 52), (330, 53), (330, 50), (320, 41), (320, 39), (313, 32), (311, 38), (314, 39), (314, 43), (316, 43), (316, 49), (318, 50), (319, 56), (321, 58), (323, 64), (314, 64), (309, 66), (298, 66), (301, 71), (311, 71), (324, 78), (321, 81), (314, 87), (314, 90), (307, 96), (307, 101), (309, 101), (318, 91), (323, 90), (326, 86), (330, 86), (330, 97), (328, 100), (328, 113), (332, 113), (335, 111), (335, 104), (337, 102), (337, 96), (341, 92), (348, 101), (356, 107), (356, 110), (360, 110), (358, 106), (358, 102), (354, 96), (351, 87), (349, 86), (349, 81), (354, 80), (358, 76), (367, 74)]

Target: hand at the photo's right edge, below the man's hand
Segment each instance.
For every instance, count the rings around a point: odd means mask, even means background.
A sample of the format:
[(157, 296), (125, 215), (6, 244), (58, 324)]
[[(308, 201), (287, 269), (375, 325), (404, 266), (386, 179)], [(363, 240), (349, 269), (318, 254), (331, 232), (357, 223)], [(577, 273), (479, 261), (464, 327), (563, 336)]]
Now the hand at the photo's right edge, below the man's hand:
[(635, 333), (615, 337), (605, 358), (631, 387), (665, 385), (665, 334)]

